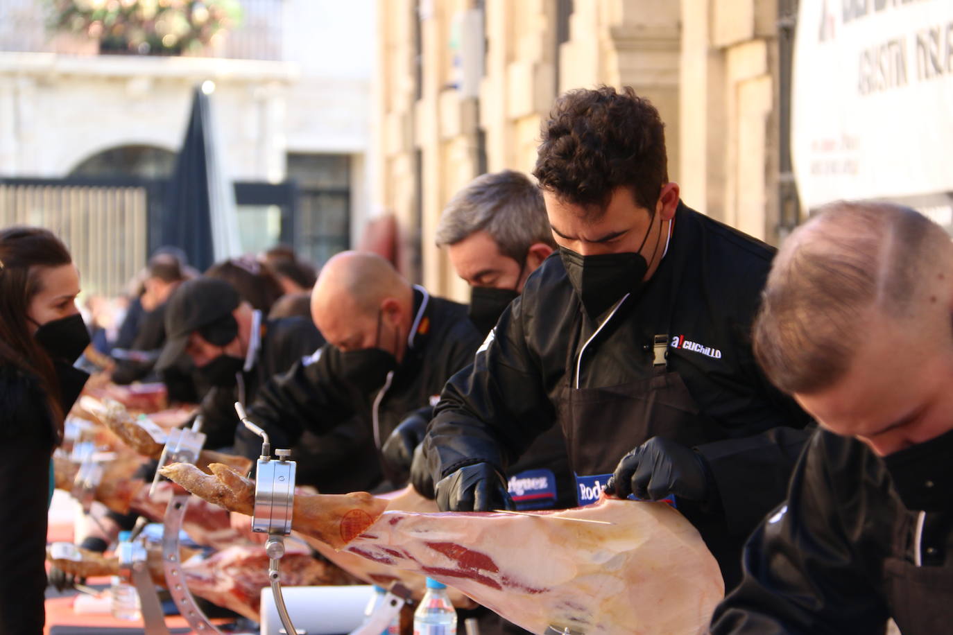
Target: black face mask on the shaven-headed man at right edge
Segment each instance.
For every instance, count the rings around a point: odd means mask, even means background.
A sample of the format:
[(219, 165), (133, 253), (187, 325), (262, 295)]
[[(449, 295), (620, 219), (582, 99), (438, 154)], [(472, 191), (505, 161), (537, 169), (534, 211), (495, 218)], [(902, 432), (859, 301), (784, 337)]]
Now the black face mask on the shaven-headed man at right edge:
[(953, 431), (889, 454), (883, 465), (907, 509), (943, 511), (953, 503)]

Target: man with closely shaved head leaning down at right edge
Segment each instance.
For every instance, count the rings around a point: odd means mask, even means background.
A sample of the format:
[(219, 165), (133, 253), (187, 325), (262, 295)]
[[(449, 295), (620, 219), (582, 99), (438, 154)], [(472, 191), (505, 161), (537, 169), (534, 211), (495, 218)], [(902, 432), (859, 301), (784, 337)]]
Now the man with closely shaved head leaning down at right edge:
[(712, 632), (950, 632), (953, 244), (918, 212), (839, 203), (785, 242), (755, 323), (766, 374), (817, 419), (785, 505)]

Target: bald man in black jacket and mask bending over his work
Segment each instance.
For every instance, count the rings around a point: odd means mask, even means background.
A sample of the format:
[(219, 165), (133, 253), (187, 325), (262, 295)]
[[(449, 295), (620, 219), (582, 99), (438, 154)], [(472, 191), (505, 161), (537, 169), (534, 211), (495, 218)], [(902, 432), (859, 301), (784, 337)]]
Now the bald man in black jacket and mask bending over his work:
[[(379, 451), (404, 416), (436, 402), (482, 339), (464, 305), (412, 286), (372, 253), (345, 251), (329, 260), (311, 308), (327, 344), (274, 377), (249, 408), (273, 447), (352, 421), (370, 431)], [(258, 455), (261, 442), (247, 430), (235, 440), (247, 456)], [(403, 485), (402, 475), (382, 467), (391, 485)]]

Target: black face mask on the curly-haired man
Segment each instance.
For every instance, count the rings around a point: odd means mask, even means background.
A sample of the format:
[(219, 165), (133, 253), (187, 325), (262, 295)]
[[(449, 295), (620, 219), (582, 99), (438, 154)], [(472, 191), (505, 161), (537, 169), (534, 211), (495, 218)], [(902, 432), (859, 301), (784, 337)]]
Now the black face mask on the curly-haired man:
[[(653, 220), (655, 217), (653, 216)], [(648, 240), (652, 224), (645, 230), (642, 244), (636, 252), (603, 253), (596, 256), (583, 256), (572, 249), (559, 248), (559, 258), (566, 268), (569, 283), (576, 290), (582, 307), (589, 317), (596, 321), (598, 317), (616, 304), (629, 293), (635, 295), (644, 284), (643, 278), (648, 271), (648, 262), (642, 256), (641, 250)], [(661, 239), (661, 223), (659, 222), (659, 239), (656, 240), (656, 251)], [(655, 259), (656, 251), (652, 252)]]

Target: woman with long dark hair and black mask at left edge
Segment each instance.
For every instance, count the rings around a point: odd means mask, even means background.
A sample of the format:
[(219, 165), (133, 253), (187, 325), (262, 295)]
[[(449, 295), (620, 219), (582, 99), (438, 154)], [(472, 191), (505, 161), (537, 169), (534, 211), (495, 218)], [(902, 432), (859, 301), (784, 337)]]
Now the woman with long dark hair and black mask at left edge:
[(50, 460), (88, 375), (79, 274), (47, 229), (0, 229), (0, 633), (43, 632)]

